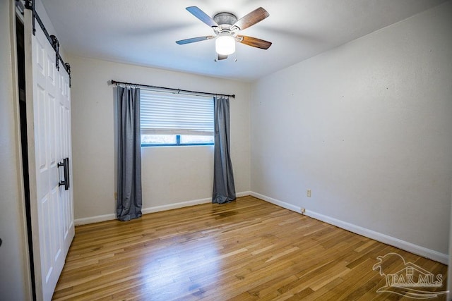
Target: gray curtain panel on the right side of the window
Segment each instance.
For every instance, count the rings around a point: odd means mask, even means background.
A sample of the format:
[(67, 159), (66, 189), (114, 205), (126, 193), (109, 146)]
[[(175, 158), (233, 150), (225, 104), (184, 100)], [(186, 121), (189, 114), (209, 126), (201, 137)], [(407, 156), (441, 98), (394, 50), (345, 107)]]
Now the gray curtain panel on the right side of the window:
[(229, 97), (215, 97), (215, 157), (212, 202), (223, 204), (235, 199), (234, 174), (230, 156)]

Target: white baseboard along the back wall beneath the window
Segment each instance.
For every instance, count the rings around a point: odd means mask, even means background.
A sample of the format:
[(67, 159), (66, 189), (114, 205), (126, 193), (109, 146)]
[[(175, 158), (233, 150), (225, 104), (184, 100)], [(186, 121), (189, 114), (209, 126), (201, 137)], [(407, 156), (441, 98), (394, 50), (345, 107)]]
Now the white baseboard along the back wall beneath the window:
[[(251, 195), (251, 191), (244, 191), (244, 192), (237, 192), (237, 197), (246, 197), (247, 195)], [(178, 209), (183, 207), (189, 207), (189, 206), (195, 206), (199, 204), (207, 204), (212, 202), (212, 198), (208, 197), (206, 199), (194, 199), (187, 202), (179, 202), (174, 204), (167, 204), (162, 206), (155, 206), (155, 207), (148, 207), (141, 209), (141, 212), (143, 214), (153, 213), (153, 212), (159, 212), (159, 211), (166, 211), (166, 210), (172, 210), (172, 209)], [(85, 217), (82, 219), (76, 219), (74, 220), (74, 224), (76, 226), (85, 225), (88, 223), (100, 223), (101, 221), (112, 221), (116, 219), (116, 214), (104, 214), (99, 216), (91, 216), (91, 217)]]

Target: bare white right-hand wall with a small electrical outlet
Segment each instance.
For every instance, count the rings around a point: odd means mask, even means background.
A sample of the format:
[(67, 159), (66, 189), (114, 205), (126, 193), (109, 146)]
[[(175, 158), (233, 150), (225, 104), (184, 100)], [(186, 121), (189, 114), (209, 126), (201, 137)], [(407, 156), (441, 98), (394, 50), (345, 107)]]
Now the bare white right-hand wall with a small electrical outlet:
[(451, 16), (448, 1), (254, 82), (251, 190), (447, 262)]

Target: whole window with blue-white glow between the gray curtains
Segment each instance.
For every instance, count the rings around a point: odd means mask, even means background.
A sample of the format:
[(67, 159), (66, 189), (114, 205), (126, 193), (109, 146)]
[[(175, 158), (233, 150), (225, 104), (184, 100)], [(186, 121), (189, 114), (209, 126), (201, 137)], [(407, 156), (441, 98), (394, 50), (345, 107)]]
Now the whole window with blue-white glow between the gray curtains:
[(141, 90), (141, 146), (213, 145), (213, 99)]

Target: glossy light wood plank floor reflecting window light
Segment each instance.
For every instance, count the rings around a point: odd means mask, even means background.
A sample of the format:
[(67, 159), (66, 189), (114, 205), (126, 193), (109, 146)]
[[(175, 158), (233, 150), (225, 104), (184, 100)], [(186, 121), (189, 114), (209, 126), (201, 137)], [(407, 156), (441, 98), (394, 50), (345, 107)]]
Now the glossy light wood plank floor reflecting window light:
[(389, 252), (446, 290), (443, 264), (241, 197), (76, 227), (54, 300), (413, 300), (376, 293), (386, 280), (372, 266)]

